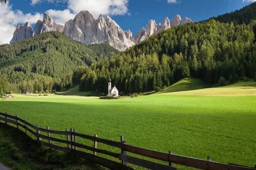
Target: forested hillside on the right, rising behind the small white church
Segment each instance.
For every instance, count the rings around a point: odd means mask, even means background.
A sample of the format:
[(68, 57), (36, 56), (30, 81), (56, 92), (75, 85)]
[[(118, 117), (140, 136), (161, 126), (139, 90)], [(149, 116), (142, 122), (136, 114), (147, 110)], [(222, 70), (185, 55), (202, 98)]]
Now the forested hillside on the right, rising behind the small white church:
[(82, 91), (107, 91), (108, 77), (122, 94), (160, 90), (184, 77), (207, 84), (220, 77), (229, 82), (256, 75), (256, 21), (234, 26), (215, 20), (170, 28), (113, 55), (80, 68)]

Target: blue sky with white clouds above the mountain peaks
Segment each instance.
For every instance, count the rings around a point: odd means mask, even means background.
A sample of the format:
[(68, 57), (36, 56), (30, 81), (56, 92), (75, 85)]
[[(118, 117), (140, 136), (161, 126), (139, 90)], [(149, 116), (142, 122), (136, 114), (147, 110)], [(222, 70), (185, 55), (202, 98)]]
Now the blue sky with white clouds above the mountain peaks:
[(200, 21), (212, 16), (240, 9), (256, 0), (10, 0), (0, 4), (0, 41), (8, 42), (17, 24), (29, 21), (32, 27), (43, 13), (59, 24), (73, 19), (81, 10), (90, 11), (95, 18), (99, 14), (110, 15), (123, 29), (130, 29), (135, 36), (148, 20), (162, 23), (164, 17), (172, 21), (176, 14)]

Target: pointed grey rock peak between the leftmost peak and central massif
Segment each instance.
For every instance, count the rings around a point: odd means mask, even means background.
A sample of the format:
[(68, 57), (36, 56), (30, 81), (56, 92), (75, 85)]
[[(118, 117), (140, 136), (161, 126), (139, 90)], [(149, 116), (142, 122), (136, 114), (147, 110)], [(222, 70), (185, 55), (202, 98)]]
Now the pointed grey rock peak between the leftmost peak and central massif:
[(35, 24), (33, 36), (37, 34), (42, 34), (44, 32), (48, 31), (57, 31), (63, 33), (64, 26), (61, 26), (49, 16), (47, 12), (44, 13), (44, 20), (38, 20), (38, 22)]

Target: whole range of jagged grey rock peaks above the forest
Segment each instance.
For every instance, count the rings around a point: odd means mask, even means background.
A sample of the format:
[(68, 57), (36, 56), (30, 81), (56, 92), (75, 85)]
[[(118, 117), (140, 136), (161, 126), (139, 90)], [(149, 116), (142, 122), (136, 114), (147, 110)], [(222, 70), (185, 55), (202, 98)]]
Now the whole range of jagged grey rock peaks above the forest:
[[(183, 23), (191, 22), (195, 21), (187, 17), (183, 18)], [(10, 44), (44, 32), (57, 31), (85, 44), (107, 43), (119, 51), (124, 51), (132, 45), (143, 42), (151, 35), (180, 24), (182, 24), (180, 15), (176, 15), (172, 22), (166, 17), (162, 24), (150, 20), (146, 28), (141, 28), (133, 37), (130, 30), (123, 31), (109, 16), (104, 18), (100, 15), (98, 19), (95, 19), (89, 11), (80, 11), (73, 20), (69, 20), (65, 26), (61, 26), (45, 12), (43, 21), (38, 20), (33, 31), (29, 22), (24, 26), (17, 25)]]

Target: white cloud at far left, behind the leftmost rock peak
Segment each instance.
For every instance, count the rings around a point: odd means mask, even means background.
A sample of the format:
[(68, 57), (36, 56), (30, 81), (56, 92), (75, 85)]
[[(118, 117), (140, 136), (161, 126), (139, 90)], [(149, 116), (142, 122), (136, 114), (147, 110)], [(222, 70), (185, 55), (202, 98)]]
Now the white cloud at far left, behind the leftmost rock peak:
[(9, 43), (12, 40), (13, 33), (17, 24), (29, 22), (34, 24), (42, 18), (43, 15), (39, 13), (35, 14), (24, 14), (20, 10), (12, 10), (12, 6), (0, 3), (0, 40), (3, 43)]

